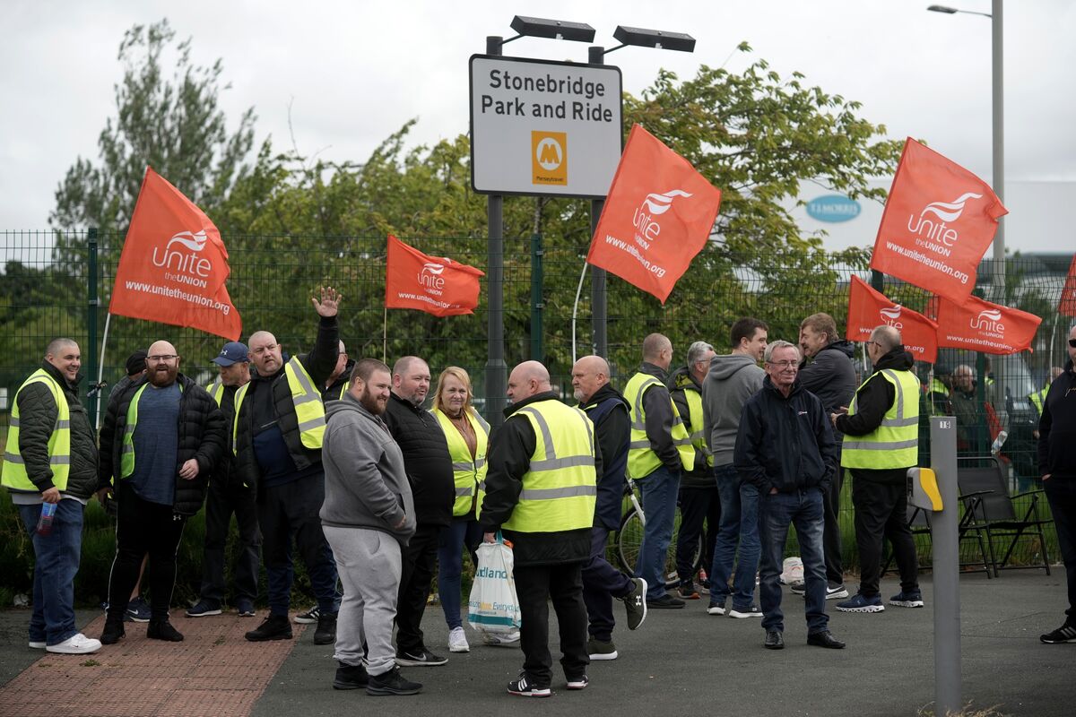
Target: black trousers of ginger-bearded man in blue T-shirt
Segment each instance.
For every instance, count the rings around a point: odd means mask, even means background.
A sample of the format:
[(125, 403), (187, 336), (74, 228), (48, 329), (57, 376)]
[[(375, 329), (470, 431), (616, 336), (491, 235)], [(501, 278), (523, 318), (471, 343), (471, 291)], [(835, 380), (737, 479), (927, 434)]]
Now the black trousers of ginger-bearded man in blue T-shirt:
[(116, 557), (109, 575), (109, 621), (122, 622), (131, 590), (138, 583), (142, 557), (150, 555), (145, 572), (150, 586), (150, 619), (168, 619), (175, 587), (175, 554), (186, 518), (175, 519), (171, 505), (151, 503), (118, 481), (116, 496)]

